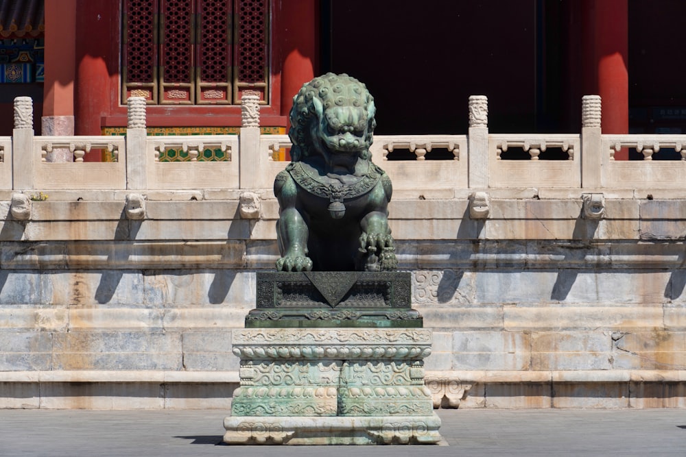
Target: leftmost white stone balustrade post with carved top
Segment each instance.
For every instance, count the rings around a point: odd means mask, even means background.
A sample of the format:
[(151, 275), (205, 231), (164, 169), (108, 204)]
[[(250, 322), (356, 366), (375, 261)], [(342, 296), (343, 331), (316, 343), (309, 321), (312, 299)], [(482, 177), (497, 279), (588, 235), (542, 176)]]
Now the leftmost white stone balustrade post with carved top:
[(12, 130), (12, 189), (34, 188), (34, 102), (31, 97), (14, 99)]

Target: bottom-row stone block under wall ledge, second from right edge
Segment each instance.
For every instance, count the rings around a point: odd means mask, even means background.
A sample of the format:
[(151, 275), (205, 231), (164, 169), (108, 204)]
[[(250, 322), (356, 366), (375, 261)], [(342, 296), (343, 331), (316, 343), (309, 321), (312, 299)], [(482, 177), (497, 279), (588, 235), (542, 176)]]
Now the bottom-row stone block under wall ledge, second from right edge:
[(554, 384), (553, 408), (628, 408), (629, 383)]

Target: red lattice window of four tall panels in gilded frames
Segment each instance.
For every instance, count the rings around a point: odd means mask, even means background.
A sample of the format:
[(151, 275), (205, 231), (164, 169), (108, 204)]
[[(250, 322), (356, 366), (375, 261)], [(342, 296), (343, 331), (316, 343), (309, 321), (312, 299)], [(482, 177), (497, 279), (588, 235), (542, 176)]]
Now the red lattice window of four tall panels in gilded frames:
[(269, 0), (123, 0), (122, 103), (267, 103)]

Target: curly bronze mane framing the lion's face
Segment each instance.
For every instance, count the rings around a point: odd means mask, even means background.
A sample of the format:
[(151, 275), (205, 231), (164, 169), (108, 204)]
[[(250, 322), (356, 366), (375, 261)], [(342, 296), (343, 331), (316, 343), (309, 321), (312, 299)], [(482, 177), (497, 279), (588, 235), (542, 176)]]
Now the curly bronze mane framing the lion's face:
[(332, 106), (359, 106), (367, 112), (367, 136), (364, 145), (360, 147), (359, 156), (363, 159), (370, 157), (369, 147), (377, 126), (374, 97), (370, 95), (366, 86), (354, 77), (345, 73), (327, 73), (304, 84), (293, 97), (293, 108), (290, 112), (291, 128), (288, 132), (293, 143), (293, 162), (309, 156), (312, 145), (309, 138), (312, 122), (320, 122), (324, 111)]

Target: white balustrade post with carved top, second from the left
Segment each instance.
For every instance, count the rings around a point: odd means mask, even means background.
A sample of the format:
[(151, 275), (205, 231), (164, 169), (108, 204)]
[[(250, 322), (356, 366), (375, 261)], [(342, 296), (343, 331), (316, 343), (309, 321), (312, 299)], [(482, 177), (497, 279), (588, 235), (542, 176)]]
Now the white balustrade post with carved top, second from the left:
[(147, 129), (145, 128), (145, 97), (126, 100), (126, 188), (147, 188)]

